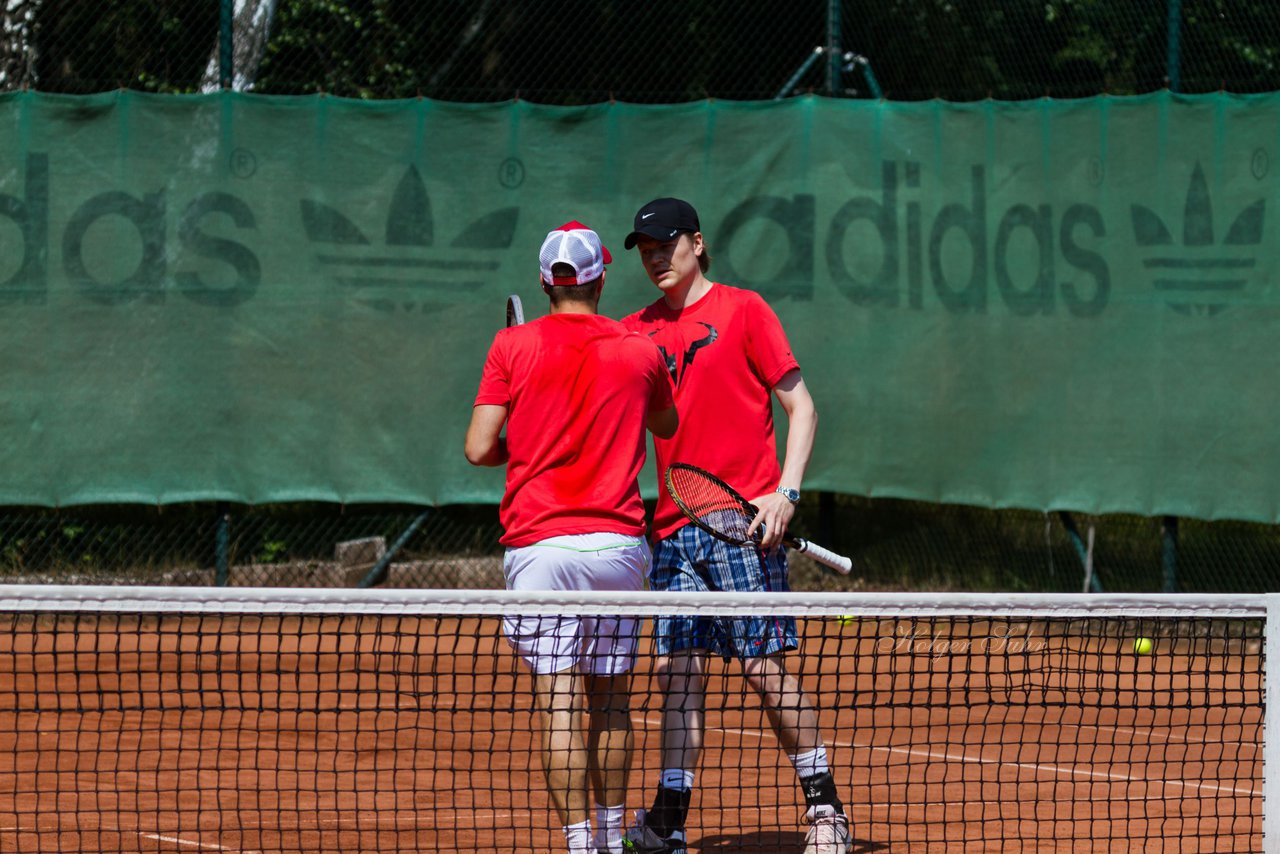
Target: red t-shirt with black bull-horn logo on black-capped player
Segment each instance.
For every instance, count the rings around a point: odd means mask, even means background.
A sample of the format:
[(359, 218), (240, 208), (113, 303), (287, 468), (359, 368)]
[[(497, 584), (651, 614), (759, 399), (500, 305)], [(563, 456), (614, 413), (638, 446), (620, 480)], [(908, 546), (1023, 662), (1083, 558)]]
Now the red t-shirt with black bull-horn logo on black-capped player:
[[(680, 311), (658, 300), (622, 324), (658, 344), (676, 387), (680, 426), (671, 439), (653, 442), (659, 476), (672, 462), (690, 462), (746, 498), (773, 492), (782, 466), (771, 393), (800, 364), (764, 298), (712, 284), (701, 300)], [(653, 536), (662, 539), (685, 522), (659, 485)]]

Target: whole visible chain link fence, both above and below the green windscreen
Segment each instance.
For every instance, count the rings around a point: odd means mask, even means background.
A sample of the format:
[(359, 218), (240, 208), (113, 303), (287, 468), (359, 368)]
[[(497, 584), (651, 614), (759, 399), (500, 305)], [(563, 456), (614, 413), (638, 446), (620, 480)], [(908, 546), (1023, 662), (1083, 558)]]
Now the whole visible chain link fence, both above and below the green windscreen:
[[(1270, 0), (5, 0), (0, 91), (680, 102), (1280, 88)], [(1271, 590), (1280, 531), (808, 495), (868, 589)], [(500, 586), (494, 507), (0, 511), (0, 579)], [(796, 558), (801, 589), (847, 586)], [(1085, 574), (1092, 580), (1085, 580)]]

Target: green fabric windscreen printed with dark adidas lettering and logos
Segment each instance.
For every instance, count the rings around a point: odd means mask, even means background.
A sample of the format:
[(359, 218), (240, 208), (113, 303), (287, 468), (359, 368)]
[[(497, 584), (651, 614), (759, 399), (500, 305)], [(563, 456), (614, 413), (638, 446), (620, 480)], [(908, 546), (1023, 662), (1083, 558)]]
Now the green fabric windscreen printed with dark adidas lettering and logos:
[(0, 503), (495, 501), (506, 296), (579, 219), (641, 307), (673, 195), (791, 335), (806, 489), (1280, 521), (1277, 138), (1270, 95), (0, 96)]

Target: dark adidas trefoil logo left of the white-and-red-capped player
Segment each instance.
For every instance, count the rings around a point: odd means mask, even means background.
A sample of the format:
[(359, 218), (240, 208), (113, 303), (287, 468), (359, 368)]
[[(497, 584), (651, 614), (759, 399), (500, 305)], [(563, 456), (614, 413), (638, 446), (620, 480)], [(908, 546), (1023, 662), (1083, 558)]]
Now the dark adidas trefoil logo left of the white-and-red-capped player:
[(500, 265), (500, 250), (511, 246), (520, 219), (518, 207), (485, 214), (449, 241), (449, 252), (440, 252), (431, 200), (412, 165), (392, 196), (380, 246), (329, 205), (310, 198), (300, 205), (307, 239), (319, 245), (316, 260), (357, 302), (388, 312), (434, 311), (454, 301), (451, 291), (484, 284)]

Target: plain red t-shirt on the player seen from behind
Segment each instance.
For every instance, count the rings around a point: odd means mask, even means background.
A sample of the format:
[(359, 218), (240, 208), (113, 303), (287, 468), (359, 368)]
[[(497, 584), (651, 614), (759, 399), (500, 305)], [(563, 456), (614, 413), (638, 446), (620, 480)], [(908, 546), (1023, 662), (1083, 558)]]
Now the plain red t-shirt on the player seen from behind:
[(645, 419), (669, 408), (658, 348), (600, 315), (558, 314), (500, 330), (476, 405), (507, 407), (506, 545), (562, 534), (644, 533), (636, 478)]

